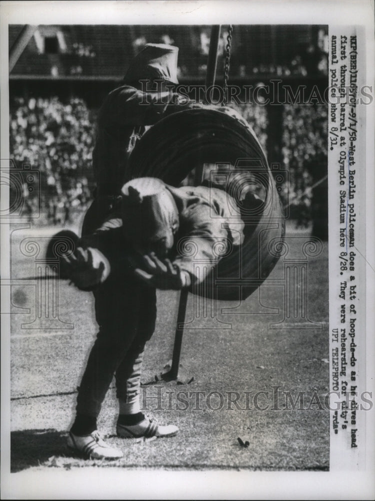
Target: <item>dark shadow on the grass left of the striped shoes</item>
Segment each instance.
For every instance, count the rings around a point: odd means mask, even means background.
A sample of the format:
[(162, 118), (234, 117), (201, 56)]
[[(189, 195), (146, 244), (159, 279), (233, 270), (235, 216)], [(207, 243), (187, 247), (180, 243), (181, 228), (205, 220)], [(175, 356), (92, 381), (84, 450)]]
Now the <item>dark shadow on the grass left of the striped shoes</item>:
[(10, 433), (10, 472), (38, 466), (50, 456), (66, 453), (66, 433), (55, 429)]

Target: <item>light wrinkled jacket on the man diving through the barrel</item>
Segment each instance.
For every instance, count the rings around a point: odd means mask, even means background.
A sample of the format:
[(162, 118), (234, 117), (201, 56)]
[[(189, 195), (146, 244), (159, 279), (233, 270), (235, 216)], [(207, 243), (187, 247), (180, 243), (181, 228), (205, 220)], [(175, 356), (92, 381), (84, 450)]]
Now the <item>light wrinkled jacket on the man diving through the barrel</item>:
[[(195, 283), (201, 283), (219, 260), (243, 242), (244, 223), (233, 198), (223, 190), (205, 186), (167, 189), (179, 214), (170, 260)], [(96, 248), (106, 257), (112, 274), (126, 268), (130, 271), (126, 258), (132, 248), (124, 237), (119, 214), (113, 213), (93, 234), (80, 240), (81, 246)]]

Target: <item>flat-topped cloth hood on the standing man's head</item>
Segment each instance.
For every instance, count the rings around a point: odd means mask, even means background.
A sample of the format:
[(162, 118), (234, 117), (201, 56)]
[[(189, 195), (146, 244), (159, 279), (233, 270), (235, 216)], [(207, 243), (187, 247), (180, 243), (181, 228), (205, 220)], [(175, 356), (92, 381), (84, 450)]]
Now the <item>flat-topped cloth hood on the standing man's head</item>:
[(139, 80), (163, 80), (164, 83), (178, 84), (178, 47), (165, 44), (146, 44), (131, 62), (124, 83), (137, 84)]

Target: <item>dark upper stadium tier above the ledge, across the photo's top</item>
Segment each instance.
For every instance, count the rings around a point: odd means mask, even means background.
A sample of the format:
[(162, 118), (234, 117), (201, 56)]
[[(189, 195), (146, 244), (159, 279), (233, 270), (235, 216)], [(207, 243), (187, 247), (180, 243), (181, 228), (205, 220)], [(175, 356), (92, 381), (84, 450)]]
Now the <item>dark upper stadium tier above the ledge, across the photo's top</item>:
[[(9, 48), (22, 29), (9, 25)], [(10, 72), (11, 80), (121, 80), (149, 42), (179, 47), (178, 78), (205, 76), (210, 26), (39, 25)], [(227, 27), (219, 43), (222, 77)], [(318, 74), (326, 26), (234, 26), (230, 72), (237, 78)]]

